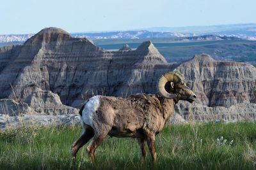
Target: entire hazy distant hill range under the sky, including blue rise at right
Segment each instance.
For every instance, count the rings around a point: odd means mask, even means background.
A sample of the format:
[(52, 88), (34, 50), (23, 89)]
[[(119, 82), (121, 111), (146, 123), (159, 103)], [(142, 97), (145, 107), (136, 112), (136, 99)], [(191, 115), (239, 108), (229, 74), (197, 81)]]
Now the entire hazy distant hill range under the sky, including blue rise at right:
[[(152, 39), (173, 41), (209, 41), (227, 39), (256, 40), (256, 24), (212, 25), (196, 27), (155, 27), (139, 31), (76, 32), (74, 38), (90, 39)], [(0, 35), (0, 43), (24, 42), (33, 34)]]

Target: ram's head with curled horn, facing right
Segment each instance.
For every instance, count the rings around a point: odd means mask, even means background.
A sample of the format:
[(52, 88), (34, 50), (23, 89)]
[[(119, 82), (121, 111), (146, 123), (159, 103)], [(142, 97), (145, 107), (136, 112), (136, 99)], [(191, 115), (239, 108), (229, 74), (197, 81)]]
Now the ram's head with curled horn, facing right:
[(193, 103), (196, 95), (186, 85), (185, 78), (182, 74), (171, 71), (163, 74), (158, 81), (157, 90), (161, 96), (176, 101), (183, 100)]

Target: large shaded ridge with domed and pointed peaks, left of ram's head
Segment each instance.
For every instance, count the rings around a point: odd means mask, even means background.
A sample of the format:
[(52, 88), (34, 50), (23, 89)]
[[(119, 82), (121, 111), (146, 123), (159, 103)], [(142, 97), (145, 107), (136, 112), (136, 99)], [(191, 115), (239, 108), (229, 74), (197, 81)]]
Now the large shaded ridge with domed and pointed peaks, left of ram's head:
[(150, 41), (137, 50), (108, 52), (56, 28), (43, 29), (19, 50), (14, 56), (10, 50), (0, 54), (0, 59), (13, 57), (0, 73), (0, 98), (23, 100), (36, 86), (58, 94), (63, 104), (79, 107), (83, 96), (156, 92), (156, 79), (175, 67)]

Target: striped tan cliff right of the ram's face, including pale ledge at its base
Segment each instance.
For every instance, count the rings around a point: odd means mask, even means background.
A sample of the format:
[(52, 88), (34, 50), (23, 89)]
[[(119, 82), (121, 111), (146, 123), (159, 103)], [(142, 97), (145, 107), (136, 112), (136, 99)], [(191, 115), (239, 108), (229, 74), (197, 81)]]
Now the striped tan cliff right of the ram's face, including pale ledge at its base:
[(184, 74), (198, 98), (193, 104), (179, 102), (175, 107), (186, 120), (255, 120), (256, 69), (252, 65), (195, 55), (175, 70)]

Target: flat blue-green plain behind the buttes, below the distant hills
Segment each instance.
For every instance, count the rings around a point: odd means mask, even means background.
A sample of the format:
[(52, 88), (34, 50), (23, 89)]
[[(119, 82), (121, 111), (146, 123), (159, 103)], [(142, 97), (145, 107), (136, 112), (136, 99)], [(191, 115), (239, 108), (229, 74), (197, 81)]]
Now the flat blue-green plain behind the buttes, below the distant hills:
[[(148, 39), (95, 40), (95, 44), (107, 50), (120, 49), (125, 44), (137, 48), (142, 41)], [(191, 59), (196, 54), (208, 53), (217, 60), (236, 60), (256, 62), (256, 41), (168, 41), (168, 39), (151, 39), (154, 46), (169, 61)]]

